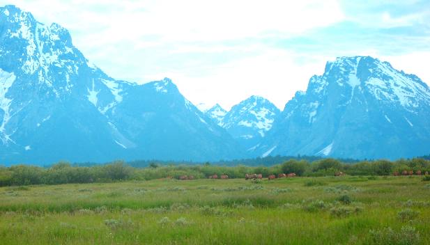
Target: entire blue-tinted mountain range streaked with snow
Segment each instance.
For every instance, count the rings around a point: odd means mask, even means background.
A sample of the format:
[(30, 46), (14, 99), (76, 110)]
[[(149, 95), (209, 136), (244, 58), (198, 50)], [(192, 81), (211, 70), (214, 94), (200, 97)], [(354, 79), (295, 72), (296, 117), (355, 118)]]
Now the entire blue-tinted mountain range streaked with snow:
[(170, 79), (113, 79), (59, 24), (0, 8), (0, 162), (397, 159), (429, 153), (428, 118), (429, 86), (369, 56), (328, 62), (283, 111), (258, 96), (199, 110)]

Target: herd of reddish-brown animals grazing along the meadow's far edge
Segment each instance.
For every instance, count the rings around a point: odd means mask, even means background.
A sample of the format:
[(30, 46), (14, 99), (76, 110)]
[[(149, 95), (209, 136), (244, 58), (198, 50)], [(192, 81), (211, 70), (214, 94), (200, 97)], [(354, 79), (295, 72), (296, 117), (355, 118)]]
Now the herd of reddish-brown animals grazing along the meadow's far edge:
[[(343, 176), (345, 175), (345, 173), (343, 172), (336, 172), (335, 176)], [(399, 173), (398, 171), (394, 171), (393, 173), (394, 176), (399, 176), (399, 175), (414, 175), (414, 171), (402, 171), (401, 173)], [(415, 175), (422, 175), (422, 171), (418, 170), (415, 171)], [(429, 172), (426, 171), (424, 173), (424, 175), (429, 175)], [(295, 177), (295, 173), (279, 173), (278, 175), (268, 175), (268, 180), (275, 180), (277, 178), (283, 178), (283, 177)], [(171, 178), (171, 177), (169, 177)], [(221, 179), (221, 180), (228, 180), (229, 179), (229, 175), (220, 175), (220, 177), (218, 177), (217, 174), (214, 175), (209, 175), (208, 176), (209, 179)], [(263, 179), (263, 175), (261, 173), (247, 173), (245, 174), (245, 180), (262, 180)], [(194, 180), (194, 175), (181, 175), (179, 176), (179, 180)]]

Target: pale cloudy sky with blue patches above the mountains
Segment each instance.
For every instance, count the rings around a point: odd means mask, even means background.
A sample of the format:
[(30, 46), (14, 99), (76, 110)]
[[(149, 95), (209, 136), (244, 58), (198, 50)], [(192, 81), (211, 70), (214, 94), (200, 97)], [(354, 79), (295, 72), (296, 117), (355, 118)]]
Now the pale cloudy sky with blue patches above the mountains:
[(430, 84), (430, 1), (0, 0), (70, 31), (115, 79), (171, 78), (194, 104), (261, 95), (280, 109), (337, 56), (370, 55)]

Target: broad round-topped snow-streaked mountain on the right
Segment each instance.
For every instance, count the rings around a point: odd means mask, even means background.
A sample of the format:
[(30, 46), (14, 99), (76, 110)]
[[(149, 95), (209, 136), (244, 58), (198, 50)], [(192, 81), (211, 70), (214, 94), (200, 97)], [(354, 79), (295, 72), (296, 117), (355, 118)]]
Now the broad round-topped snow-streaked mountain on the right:
[(430, 89), (369, 56), (328, 62), (298, 92), (256, 155), (398, 159), (429, 152)]

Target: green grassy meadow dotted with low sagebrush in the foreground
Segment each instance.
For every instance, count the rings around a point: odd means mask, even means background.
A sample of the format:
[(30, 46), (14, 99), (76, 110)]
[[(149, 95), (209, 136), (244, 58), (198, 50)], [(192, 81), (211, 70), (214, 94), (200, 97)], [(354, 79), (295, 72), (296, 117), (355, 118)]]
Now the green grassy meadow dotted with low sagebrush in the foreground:
[(0, 244), (430, 244), (422, 176), (0, 188)]

